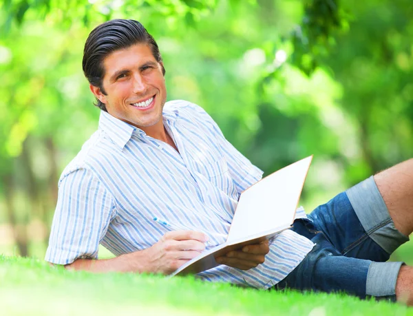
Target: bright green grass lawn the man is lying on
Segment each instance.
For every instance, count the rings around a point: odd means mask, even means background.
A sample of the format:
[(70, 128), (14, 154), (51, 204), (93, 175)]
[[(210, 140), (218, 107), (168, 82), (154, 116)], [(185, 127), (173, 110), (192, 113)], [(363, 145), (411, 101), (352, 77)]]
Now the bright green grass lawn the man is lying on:
[(257, 291), (193, 277), (92, 274), (0, 255), (1, 315), (413, 315), (342, 294)]

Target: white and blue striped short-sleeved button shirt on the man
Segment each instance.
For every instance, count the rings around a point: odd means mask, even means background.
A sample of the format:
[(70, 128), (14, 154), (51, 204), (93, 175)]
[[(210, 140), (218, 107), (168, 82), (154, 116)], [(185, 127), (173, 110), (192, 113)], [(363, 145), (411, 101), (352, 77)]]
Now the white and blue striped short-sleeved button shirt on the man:
[[(64, 169), (45, 260), (70, 264), (152, 246), (167, 231), (202, 231), (207, 249), (226, 240), (240, 193), (262, 178), (198, 105), (169, 101), (163, 123), (178, 151), (100, 112), (98, 130)], [(304, 211), (297, 217), (305, 217)], [(158, 218), (169, 225), (156, 222)], [(248, 271), (220, 265), (198, 273), (208, 281), (269, 288), (313, 249), (286, 230), (270, 242), (264, 264)]]

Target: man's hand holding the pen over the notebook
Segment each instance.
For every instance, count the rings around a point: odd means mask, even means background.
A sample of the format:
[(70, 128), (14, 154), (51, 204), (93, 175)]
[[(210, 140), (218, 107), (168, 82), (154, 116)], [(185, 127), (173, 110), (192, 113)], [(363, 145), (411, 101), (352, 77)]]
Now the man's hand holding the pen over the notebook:
[(198, 231), (169, 231), (153, 246), (146, 249), (152, 273), (168, 275), (182, 264), (204, 251), (208, 236)]

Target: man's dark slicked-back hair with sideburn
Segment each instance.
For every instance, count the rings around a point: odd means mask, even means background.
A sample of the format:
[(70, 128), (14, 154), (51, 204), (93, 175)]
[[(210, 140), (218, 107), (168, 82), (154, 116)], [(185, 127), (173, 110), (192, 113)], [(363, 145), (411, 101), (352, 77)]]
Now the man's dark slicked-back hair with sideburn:
[[(153, 57), (158, 63), (162, 62), (158, 44), (151, 34), (135, 20), (116, 19), (98, 25), (90, 32), (83, 50), (83, 73), (87, 81), (95, 87), (99, 87), (103, 94), (103, 76), (105, 69), (103, 59), (115, 50), (129, 48), (137, 43), (146, 43), (151, 49)], [(165, 68), (162, 65), (162, 73), (165, 75)], [(96, 98), (96, 106), (107, 112), (105, 103)]]

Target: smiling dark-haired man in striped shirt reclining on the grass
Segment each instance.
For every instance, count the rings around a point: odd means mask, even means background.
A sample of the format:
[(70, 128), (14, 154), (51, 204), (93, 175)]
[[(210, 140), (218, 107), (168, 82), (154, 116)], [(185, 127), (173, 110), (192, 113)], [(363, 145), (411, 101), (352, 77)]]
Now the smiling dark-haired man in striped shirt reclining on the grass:
[[(173, 272), (221, 244), (240, 193), (260, 180), (204, 110), (166, 101), (158, 45), (133, 20), (95, 28), (83, 72), (99, 128), (59, 180), (45, 259), (87, 271)], [(413, 160), (361, 182), (271, 242), (198, 274), (255, 288), (346, 291), (412, 302), (413, 271), (385, 262), (413, 231)], [(97, 260), (98, 244), (117, 257)]]

